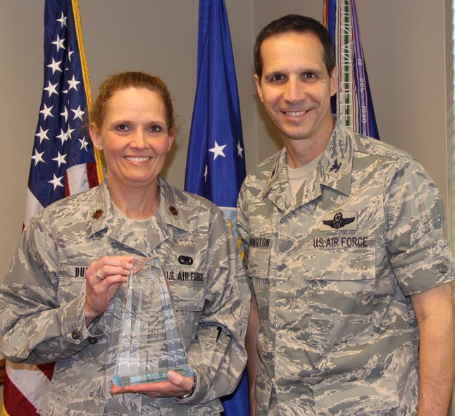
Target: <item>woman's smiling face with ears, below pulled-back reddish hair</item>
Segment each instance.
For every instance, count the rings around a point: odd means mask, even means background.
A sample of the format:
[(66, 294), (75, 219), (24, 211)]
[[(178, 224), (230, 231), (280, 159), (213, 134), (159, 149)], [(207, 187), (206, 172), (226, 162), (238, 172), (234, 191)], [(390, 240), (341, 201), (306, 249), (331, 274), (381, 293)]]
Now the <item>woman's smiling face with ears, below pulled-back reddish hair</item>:
[(104, 151), (109, 184), (125, 189), (156, 185), (175, 138), (167, 121), (158, 93), (133, 87), (113, 93), (102, 125), (90, 125), (92, 141)]

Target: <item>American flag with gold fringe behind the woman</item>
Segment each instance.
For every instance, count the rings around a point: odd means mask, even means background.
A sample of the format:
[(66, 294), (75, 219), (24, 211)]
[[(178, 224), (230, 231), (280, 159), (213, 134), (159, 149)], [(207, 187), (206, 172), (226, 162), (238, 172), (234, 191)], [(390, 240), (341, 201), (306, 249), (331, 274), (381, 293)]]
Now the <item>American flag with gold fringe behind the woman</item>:
[[(84, 128), (91, 105), (77, 0), (46, 0), (44, 86), (27, 187), (24, 225), (58, 199), (96, 186), (101, 162)], [(37, 415), (53, 365), (6, 363), (2, 416)]]

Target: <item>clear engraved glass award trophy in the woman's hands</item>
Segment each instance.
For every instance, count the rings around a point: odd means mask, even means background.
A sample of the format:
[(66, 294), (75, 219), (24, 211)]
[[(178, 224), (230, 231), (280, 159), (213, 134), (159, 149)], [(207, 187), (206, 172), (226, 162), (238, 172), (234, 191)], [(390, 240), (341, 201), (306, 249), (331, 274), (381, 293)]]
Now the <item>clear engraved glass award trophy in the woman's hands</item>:
[(135, 259), (125, 290), (113, 382), (118, 386), (159, 382), (168, 379), (169, 370), (193, 375), (168, 280), (158, 259)]

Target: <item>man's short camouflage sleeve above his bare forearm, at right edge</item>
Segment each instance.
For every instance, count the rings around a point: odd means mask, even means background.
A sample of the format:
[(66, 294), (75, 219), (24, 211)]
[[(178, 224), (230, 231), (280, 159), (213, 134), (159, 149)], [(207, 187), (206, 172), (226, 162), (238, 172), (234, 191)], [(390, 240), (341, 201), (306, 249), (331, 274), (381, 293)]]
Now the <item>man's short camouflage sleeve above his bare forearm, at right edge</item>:
[(454, 258), (444, 238), (444, 206), (428, 173), (402, 157), (385, 187), (386, 248), (406, 295), (454, 279)]

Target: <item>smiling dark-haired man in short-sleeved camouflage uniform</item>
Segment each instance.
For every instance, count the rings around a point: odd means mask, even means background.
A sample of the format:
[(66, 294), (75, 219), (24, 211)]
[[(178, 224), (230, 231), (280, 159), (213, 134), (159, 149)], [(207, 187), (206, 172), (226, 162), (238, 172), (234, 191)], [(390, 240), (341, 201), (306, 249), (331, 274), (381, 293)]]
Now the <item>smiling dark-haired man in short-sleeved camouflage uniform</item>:
[(435, 184), (331, 115), (337, 68), (316, 20), (265, 27), (255, 70), (284, 149), (247, 177), (237, 209), (253, 413), (447, 415), (454, 258)]

